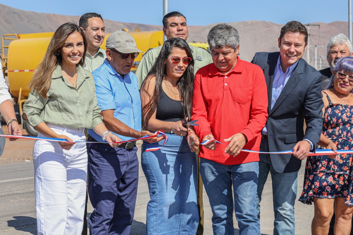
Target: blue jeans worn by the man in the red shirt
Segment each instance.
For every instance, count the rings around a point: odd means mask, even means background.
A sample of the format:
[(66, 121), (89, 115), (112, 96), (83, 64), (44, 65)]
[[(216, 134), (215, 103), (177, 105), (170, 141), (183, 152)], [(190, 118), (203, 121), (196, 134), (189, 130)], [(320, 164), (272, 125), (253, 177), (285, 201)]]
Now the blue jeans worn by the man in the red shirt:
[(201, 158), (200, 174), (213, 213), (213, 234), (234, 234), (234, 208), (239, 226), (239, 234), (259, 235), (260, 220), (257, 217), (255, 193), (258, 178), (258, 162), (222, 165)]

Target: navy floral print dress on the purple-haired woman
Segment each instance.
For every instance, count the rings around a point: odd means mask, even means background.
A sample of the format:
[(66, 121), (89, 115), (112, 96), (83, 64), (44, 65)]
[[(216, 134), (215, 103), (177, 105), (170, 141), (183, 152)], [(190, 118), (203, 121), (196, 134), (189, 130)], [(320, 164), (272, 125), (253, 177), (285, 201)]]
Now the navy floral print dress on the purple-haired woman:
[[(324, 92), (325, 93), (325, 92)], [(326, 93), (325, 93), (326, 94)], [(353, 106), (332, 104), (325, 109), (322, 134), (333, 141), (337, 149), (353, 149)], [(318, 146), (318, 149), (325, 149)], [(342, 197), (347, 205), (353, 205), (352, 154), (308, 156), (305, 166), (304, 188), (300, 202), (311, 204), (313, 197)]]

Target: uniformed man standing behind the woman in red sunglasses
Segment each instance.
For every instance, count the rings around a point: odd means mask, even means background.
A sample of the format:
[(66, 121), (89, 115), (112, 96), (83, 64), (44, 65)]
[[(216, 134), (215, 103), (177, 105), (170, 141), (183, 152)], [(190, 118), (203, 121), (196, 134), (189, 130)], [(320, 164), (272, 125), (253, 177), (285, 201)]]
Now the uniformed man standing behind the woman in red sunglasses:
[[(177, 11), (170, 12), (163, 17), (163, 33), (167, 37), (170, 38), (182, 38), (186, 41), (187, 36), (189, 35), (189, 31), (187, 29), (186, 18), (183, 14)], [(207, 64), (213, 63), (210, 52), (204, 48), (194, 47), (190, 45), (190, 49), (192, 52), (192, 57), (194, 60), (194, 72), (196, 74), (197, 70), (201, 67), (206, 66)], [(143, 80), (146, 78), (146, 75), (152, 68), (153, 64), (156, 61), (159, 52), (161, 51), (162, 46), (149, 49), (143, 54), (142, 60), (136, 70), (136, 76), (138, 79), (139, 89), (141, 88)], [(197, 158), (198, 168), (200, 166), (200, 159)], [(203, 234), (203, 201), (202, 201), (202, 180), (200, 175), (198, 176), (197, 181), (197, 206), (199, 209), (199, 225), (197, 228), (197, 235)]]

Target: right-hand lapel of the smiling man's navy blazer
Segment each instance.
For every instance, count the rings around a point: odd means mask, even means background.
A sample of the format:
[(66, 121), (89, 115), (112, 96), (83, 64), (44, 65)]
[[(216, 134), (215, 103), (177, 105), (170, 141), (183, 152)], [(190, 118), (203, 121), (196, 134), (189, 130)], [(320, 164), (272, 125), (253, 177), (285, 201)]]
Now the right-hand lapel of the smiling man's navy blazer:
[(273, 106), (273, 108), (269, 112), (269, 115), (271, 113), (273, 113), (283, 103), (283, 101), (288, 97), (289, 93), (291, 93), (293, 91), (294, 87), (297, 86), (298, 82), (300, 81), (299, 74), (302, 73), (302, 71), (301, 71), (302, 66), (303, 65), (301, 64), (301, 61), (299, 61), (299, 63), (297, 64), (297, 67), (294, 69), (293, 73), (289, 77), (285, 87), (283, 87), (283, 90), (282, 90), (281, 94), (279, 95), (275, 105)]

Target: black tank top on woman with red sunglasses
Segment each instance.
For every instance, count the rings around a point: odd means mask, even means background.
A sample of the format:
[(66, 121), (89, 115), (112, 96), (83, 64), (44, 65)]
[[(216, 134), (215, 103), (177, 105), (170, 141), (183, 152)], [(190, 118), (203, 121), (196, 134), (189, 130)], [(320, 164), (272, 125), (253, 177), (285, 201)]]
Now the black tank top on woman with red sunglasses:
[(156, 119), (167, 122), (177, 122), (183, 118), (181, 115), (180, 101), (171, 99), (162, 89), (161, 97), (157, 104)]

